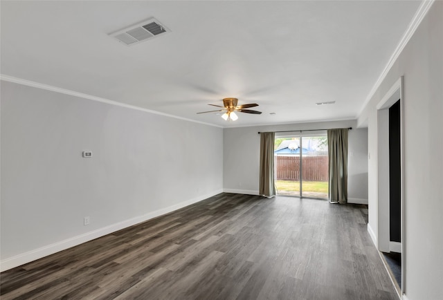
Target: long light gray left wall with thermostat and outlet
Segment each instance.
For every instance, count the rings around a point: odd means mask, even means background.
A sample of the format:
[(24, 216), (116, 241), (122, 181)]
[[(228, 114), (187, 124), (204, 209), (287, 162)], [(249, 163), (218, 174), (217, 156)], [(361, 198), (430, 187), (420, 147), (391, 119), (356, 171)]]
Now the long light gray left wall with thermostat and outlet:
[(221, 128), (2, 81), (1, 268), (218, 194), (222, 159)]

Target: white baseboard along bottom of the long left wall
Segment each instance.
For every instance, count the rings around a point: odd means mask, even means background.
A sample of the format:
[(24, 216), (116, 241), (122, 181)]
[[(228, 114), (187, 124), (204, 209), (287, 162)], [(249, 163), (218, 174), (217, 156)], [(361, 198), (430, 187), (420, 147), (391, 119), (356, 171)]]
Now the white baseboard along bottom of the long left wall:
[(106, 227), (102, 227), (100, 229), (93, 230), (91, 232), (87, 232), (84, 234), (80, 234), (78, 236), (73, 236), (71, 238), (66, 238), (63, 241), (59, 241), (57, 243), (53, 243), (51, 245), (46, 245), (44, 247), (39, 247), (35, 250), (31, 250), (29, 252), (21, 253), (16, 256), (12, 256), (8, 259), (3, 259), (0, 261), (0, 272), (18, 267), (19, 265), (24, 265), (25, 263), (30, 263), (31, 261), (35, 261), (37, 259), (41, 259), (44, 256), (48, 256), (62, 250), (66, 250), (68, 248), (74, 247), (76, 245), (80, 245), (82, 243), (86, 243), (88, 241), (92, 241), (95, 238), (100, 238), (101, 236), (105, 236), (107, 234), (111, 234), (112, 232), (116, 232), (121, 229), (125, 229), (126, 227), (136, 225), (138, 223), (142, 223), (148, 221), (152, 218), (156, 218), (163, 214), (168, 214), (170, 212), (174, 212), (174, 210), (180, 209), (182, 207), (186, 207), (193, 203), (197, 203), (201, 200), (205, 200), (212, 196), (222, 193), (223, 190), (219, 189), (217, 191), (213, 191), (210, 194), (201, 195), (197, 198), (192, 198), (190, 200), (183, 201), (181, 203), (177, 203), (176, 205), (172, 205), (169, 207), (165, 207), (162, 209), (158, 209), (154, 212), (150, 212), (148, 214), (144, 214), (143, 216), (136, 216), (135, 218), (130, 218), (129, 220), (125, 220), (113, 225), (109, 225)]

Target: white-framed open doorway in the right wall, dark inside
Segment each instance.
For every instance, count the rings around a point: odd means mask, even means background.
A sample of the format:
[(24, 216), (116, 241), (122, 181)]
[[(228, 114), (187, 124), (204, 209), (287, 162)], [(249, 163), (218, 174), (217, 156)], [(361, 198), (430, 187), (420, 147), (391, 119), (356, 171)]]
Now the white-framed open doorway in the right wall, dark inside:
[(403, 78), (377, 104), (377, 249), (392, 283), (405, 290)]

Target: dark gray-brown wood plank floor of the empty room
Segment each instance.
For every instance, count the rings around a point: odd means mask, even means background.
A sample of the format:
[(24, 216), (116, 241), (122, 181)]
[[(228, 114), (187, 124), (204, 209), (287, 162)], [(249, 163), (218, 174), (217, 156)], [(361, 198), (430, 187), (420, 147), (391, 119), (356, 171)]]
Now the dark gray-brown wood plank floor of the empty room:
[(219, 194), (1, 273), (1, 299), (398, 299), (365, 205)]

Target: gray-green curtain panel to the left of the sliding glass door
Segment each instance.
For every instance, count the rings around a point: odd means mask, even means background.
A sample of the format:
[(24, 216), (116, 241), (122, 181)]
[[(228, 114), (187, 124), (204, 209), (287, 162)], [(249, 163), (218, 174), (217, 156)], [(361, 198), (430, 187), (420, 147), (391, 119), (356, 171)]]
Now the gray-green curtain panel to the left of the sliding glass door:
[(260, 133), (260, 187), (259, 194), (275, 196), (274, 182), (274, 138), (273, 132)]

